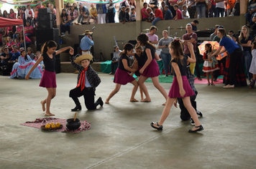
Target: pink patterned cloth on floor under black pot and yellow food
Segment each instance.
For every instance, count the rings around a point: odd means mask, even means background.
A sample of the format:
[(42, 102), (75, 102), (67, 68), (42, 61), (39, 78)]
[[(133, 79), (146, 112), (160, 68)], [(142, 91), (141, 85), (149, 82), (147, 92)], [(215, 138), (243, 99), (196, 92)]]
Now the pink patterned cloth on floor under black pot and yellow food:
[(80, 121), (81, 122), (81, 126), (77, 130), (68, 130), (68, 128), (65, 127), (66, 119), (58, 119), (58, 118), (54, 118), (54, 117), (39, 118), (39, 119), (36, 119), (35, 121), (24, 122), (24, 123), (22, 123), (20, 125), (25, 125), (25, 126), (35, 127), (35, 128), (41, 129), (41, 126), (42, 125), (46, 125), (47, 122), (49, 122), (49, 123), (51, 123), (51, 122), (54, 122), (54, 123), (60, 122), (60, 124), (63, 125), (63, 128), (61, 128), (61, 129), (49, 130), (49, 131), (54, 131), (54, 132), (78, 133), (78, 132), (89, 130), (91, 128), (91, 123), (88, 123), (87, 121)]

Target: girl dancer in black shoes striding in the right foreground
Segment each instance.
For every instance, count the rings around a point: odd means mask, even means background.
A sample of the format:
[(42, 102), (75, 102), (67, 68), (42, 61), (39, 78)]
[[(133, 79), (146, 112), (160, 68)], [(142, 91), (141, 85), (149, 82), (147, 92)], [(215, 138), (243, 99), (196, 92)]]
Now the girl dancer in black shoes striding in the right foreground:
[(204, 130), (203, 126), (198, 120), (196, 110), (191, 105), (190, 96), (193, 96), (194, 92), (191, 89), (191, 86), (189, 85), (188, 79), (186, 77), (187, 62), (196, 62), (196, 57), (193, 52), (193, 44), (188, 42), (188, 49), (191, 53), (191, 58), (187, 55), (183, 55), (183, 47), (179, 40), (174, 40), (171, 42), (169, 47), (170, 54), (173, 57), (173, 59), (170, 61), (174, 69), (173, 84), (172, 87), (170, 87), (168, 100), (159, 122), (152, 122), (150, 125), (157, 130), (163, 130), (163, 122), (165, 122), (165, 119), (170, 113), (170, 107), (172, 107), (173, 102), (175, 102), (177, 97), (182, 97), (186, 109), (195, 122), (195, 127), (193, 127), (193, 129), (189, 130), (188, 132), (198, 132)]

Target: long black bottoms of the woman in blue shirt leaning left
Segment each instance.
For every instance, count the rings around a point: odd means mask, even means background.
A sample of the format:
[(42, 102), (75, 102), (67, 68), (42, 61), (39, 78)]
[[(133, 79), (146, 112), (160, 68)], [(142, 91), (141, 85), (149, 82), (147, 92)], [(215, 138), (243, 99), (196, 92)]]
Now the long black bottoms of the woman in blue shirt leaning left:
[(230, 54), (230, 62), (229, 62), (229, 84), (233, 85), (236, 79), (237, 72), (237, 64), (242, 57), (242, 50), (237, 48)]

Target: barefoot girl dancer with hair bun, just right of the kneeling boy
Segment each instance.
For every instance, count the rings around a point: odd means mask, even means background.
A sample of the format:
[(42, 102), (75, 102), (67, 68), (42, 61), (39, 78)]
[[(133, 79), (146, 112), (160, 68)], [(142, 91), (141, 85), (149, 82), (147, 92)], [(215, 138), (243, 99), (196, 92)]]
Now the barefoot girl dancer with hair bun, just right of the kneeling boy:
[(109, 94), (109, 97), (106, 98), (106, 104), (109, 104), (109, 100), (111, 97), (116, 95), (117, 92), (119, 92), (121, 85), (127, 84), (128, 82), (132, 83), (134, 85), (132, 89), (132, 96), (129, 100), (130, 102), (138, 102), (134, 98), (135, 93), (138, 89), (137, 80), (132, 77), (129, 72), (135, 72), (136, 69), (132, 69), (129, 67), (129, 57), (131, 56), (133, 52), (132, 44), (124, 44), (124, 51), (120, 53), (120, 58), (118, 61), (118, 67), (116, 69), (116, 73), (114, 74), (114, 83), (116, 83), (116, 87), (114, 90)]

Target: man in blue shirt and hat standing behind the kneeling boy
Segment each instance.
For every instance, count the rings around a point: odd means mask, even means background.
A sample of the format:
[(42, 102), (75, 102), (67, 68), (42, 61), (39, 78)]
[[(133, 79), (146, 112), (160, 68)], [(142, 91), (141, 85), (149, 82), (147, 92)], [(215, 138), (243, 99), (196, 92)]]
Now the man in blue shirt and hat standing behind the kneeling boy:
[(91, 54), (90, 49), (94, 45), (93, 39), (91, 39), (93, 32), (86, 30), (85, 34), (86, 36), (81, 39), (80, 48), (82, 49), (82, 54)]

